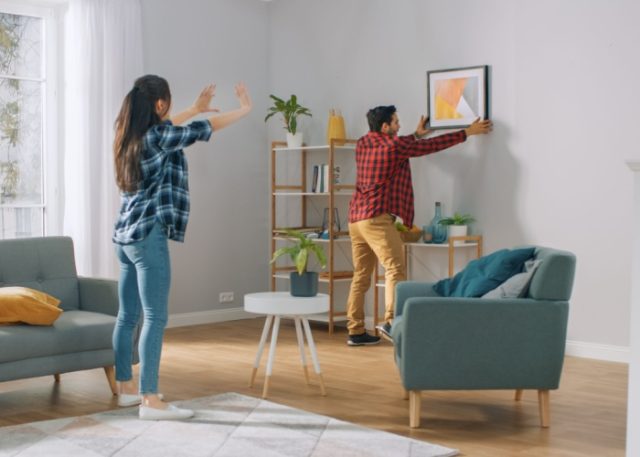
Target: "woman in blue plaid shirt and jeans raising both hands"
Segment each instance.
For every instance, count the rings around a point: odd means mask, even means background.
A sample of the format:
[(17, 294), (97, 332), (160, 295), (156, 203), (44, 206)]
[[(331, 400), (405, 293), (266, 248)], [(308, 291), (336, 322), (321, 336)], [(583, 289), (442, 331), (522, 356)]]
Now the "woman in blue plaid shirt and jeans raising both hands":
[[(140, 405), (145, 420), (186, 419), (193, 411), (165, 403), (158, 395), (162, 337), (167, 323), (171, 282), (168, 240), (184, 241), (189, 218), (189, 183), (183, 148), (208, 141), (211, 132), (240, 120), (251, 111), (246, 87), (237, 84), (240, 108), (209, 119), (183, 122), (200, 113), (217, 112), (209, 105), (209, 85), (195, 103), (169, 118), (171, 92), (155, 75), (138, 78), (125, 97), (114, 141), (115, 174), (122, 195), (113, 241), (120, 261), (120, 309), (113, 332), (118, 405)], [(133, 380), (134, 329), (144, 314), (138, 352), (139, 386)]]

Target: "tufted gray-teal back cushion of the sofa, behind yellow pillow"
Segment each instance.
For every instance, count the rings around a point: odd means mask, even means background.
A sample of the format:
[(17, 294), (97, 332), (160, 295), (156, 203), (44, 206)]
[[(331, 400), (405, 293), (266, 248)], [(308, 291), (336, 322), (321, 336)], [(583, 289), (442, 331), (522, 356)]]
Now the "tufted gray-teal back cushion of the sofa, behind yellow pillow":
[(0, 241), (0, 287), (41, 290), (61, 301), (60, 308), (79, 308), (78, 275), (69, 237)]

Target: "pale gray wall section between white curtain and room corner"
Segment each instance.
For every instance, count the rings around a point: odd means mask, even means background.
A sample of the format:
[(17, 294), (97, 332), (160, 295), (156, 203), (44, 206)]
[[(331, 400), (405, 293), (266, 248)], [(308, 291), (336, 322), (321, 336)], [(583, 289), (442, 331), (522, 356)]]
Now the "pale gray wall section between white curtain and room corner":
[[(254, 101), (248, 118), (186, 150), (191, 217), (185, 243), (171, 243), (171, 314), (241, 306), (244, 293), (268, 287), (267, 5), (142, 0), (142, 16), (144, 69), (167, 78), (174, 112), (210, 82), (222, 111), (238, 106), (237, 81)], [(218, 303), (225, 291), (235, 292), (231, 305)]]

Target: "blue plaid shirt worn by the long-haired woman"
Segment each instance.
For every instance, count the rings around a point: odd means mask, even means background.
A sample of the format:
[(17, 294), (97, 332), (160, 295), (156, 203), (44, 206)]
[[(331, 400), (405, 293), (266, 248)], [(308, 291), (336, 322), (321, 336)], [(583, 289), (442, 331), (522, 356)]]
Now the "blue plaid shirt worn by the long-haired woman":
[(209, 121), (175, 126), (171, 121), (151, 127), (143, 138), (142, 179), (135, 192), (121, 194), (120, 214), (113, 242), (130, 244), (149, 235), (159, 221), (167, 236), (184, 241), (189, 221), (189, 173), (183, 148), (209, 141)]

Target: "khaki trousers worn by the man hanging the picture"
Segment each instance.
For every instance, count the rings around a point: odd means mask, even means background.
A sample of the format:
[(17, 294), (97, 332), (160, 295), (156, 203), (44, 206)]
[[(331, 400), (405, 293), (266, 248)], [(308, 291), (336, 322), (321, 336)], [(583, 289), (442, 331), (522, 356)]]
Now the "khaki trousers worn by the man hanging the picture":
[(389, 323), (393, 320), (396, 284), (404, 281), (407, 277), (404, 263), (404, 244), (393, 222), (393, 216), (381, 214), (371, 219), (349, 224), (354, 270), (347, 301), (349, 335), (360, 335), (365, 331), (364, 296), (371, 286), (376, 257), (384, 267), (384, 319)]

